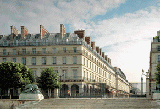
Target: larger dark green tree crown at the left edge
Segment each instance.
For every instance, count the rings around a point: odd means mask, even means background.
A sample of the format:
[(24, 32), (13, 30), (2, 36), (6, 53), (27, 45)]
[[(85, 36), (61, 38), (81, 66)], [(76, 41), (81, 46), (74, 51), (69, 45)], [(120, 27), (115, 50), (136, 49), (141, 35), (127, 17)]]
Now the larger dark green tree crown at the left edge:
[(25, 65), (14, 62), (0, 63), (0, 88), (23, 88), (33, 81), (32, 70)]

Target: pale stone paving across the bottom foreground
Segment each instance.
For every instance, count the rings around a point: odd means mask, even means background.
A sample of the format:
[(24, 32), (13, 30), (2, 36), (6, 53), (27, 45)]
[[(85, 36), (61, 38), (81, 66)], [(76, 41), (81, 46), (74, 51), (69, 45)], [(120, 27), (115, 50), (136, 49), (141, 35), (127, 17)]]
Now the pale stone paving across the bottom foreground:
[[(160, 109), (157, 101), (150, 99), (44, 99), (20, 109)], [(18, 109), (18, 108), (17, 108)]]

